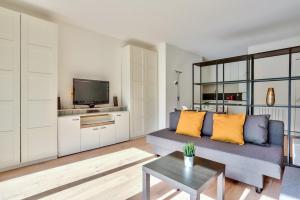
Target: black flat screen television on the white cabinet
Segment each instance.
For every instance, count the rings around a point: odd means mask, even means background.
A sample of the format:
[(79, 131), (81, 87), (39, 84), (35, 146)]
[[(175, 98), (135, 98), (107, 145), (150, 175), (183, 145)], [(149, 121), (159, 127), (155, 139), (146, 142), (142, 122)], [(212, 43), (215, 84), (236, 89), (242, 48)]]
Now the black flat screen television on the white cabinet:
[(87, 79), (73, 79), (73, 104), (88, 105), (109, 103), (109, 82)]

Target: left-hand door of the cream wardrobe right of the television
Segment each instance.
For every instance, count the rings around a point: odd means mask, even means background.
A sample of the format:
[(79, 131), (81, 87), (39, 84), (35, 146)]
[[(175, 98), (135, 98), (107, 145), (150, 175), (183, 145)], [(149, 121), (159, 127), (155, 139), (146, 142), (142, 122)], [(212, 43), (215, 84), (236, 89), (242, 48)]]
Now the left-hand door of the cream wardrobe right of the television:
[(131, 138), (144, 135), (143, 49), (131, 48)]

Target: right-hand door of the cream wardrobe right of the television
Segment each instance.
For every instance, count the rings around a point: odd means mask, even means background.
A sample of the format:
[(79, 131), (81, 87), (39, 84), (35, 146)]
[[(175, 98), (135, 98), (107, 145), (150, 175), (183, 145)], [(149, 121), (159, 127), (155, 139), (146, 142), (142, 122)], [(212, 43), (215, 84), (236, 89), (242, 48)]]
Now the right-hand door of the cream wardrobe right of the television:
[(144, 132), (158, 129), (158, 77), (157, 53), (144, 50)]

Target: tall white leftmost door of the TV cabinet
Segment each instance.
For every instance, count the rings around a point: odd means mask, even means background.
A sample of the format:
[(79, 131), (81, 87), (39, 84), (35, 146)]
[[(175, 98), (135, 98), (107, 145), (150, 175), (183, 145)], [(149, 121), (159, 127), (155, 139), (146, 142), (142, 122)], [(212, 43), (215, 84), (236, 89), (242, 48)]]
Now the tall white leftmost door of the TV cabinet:
[(80, 152), (80, 117), (58, 119), (58, 156)]

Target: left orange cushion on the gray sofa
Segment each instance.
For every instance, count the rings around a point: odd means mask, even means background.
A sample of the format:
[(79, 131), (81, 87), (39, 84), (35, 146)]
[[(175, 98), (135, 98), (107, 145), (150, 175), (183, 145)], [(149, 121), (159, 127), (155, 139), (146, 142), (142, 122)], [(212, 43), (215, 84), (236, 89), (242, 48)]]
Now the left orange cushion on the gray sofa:
[(200, 137), (205, 112), (182, 111), (176, 133)]

